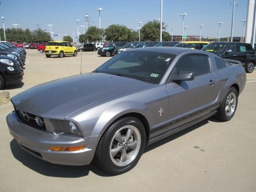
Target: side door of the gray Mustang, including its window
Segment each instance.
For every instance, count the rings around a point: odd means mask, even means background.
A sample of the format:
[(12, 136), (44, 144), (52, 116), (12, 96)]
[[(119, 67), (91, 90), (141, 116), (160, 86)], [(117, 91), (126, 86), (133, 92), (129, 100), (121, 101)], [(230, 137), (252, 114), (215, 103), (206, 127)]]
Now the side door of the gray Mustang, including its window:
[[(172, 81), (180, 72), (193, 72), (191, 81)], [(218, 95), (217, 78), (212, 72), (210, 58), (203, 54), (188, 54), (177, 61), (166, 85), (168, 90), (169, 129), (207, 115)]]

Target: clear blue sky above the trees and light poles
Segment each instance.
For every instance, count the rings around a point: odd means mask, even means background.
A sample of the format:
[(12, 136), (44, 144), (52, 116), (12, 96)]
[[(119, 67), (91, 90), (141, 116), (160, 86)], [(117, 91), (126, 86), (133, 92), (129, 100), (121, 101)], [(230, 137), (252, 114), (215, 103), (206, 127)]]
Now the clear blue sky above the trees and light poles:
[[(170, 35), (182, 35), (182, 16), (186, 35), (220, 36), (231, 34), (232, 9), (234, 0), (163, 0), (163, 22)], [(85, 33), (87, 25), (102, 29), (112, 24), (126, 26), (137, 31), (149, 21), (160, 19), (161, 0), (0, 0), (0, 17), (4, 17), (5, 28), (42, 29), (50, 33), (72, 38), (77, 36), (77, 20), (79, 33)], [(99, 12), (98, 9), (102, 8)], [(248, 0), (235, 0), (233, 36), (243, 35), (243, 24), (246, 20)], [(2, 20), (3, 23), (3, 20)], [(18, 24), (18, 25), (13, 25)], [(3, 24), (0, 22), (0, 28)], [(173, 28), (173, 29), (172, 29)], [(8, 34), (6, 34), (8, 36)]]

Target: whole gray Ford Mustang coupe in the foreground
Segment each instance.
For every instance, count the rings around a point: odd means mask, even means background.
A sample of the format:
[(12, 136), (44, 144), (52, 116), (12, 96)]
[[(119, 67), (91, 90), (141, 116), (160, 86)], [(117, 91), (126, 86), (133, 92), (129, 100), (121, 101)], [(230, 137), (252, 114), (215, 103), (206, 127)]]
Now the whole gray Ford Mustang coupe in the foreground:
[(6, 120), (29, 153), (54, 164), (94, 160), (114, 175), (145, 147), (210, 116), (230, 120), (243, 92), (239, 61), (205, 51), (124, 51), (93, 72), (40, 84), (12, 98)]

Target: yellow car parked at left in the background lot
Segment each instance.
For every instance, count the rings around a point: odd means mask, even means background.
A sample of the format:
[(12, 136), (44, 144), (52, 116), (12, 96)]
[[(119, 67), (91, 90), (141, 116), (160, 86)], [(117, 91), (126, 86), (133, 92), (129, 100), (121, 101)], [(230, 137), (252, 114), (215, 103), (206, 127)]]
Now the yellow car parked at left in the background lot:
[(45, 56), (49, 58), (52, 55), (59, 56), (59, 58), (63, 58), (66, 55), (77, 56), (77, 49), (69, 42), (51, 41), (45, 47)]

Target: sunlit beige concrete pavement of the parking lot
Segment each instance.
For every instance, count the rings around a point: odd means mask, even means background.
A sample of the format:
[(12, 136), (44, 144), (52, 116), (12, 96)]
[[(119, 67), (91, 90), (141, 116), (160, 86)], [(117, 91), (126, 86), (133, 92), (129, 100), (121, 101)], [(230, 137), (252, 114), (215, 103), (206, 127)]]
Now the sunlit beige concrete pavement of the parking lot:
[[(36, 84), (91, 72), (109, 60), (97, 52), (65, 58), (27, 52), (23, 83), (0, 92), (12, 97)], [(22, 150), (8, 131), (6, 115), (13, 110), (8, 102), (0, 106), (0, 191), (256, 191), (255, 87), (256, 70), (247, 74), (232, 120), (210, 118), (154, 143), (134, 169), (118, 176), (93, 163), (56, 165)]]

